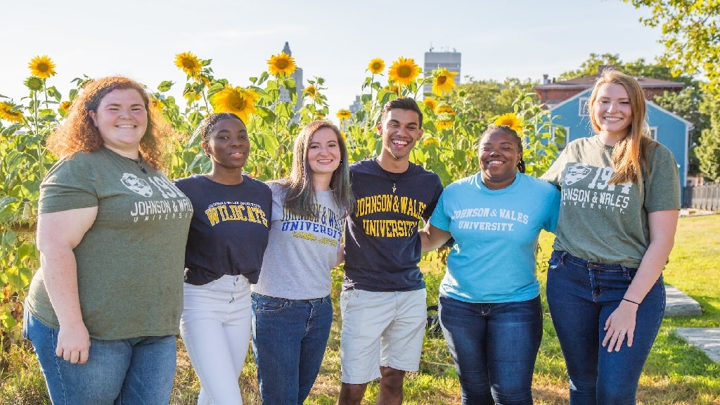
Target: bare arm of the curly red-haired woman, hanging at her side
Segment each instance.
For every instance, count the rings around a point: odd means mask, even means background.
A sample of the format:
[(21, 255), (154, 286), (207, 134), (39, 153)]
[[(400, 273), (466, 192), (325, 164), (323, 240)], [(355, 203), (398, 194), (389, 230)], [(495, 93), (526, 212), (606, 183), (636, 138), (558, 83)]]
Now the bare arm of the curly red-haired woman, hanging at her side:
[(55, 355), (73, 363), (86, 362), (90, 349), (90, 335), (80, 311), (73, 249), (92, 226), (96, 215), (97, 207), (90, 207), (40, 214), (37, 218), (40, 266), (50, 303), (60, 323)]

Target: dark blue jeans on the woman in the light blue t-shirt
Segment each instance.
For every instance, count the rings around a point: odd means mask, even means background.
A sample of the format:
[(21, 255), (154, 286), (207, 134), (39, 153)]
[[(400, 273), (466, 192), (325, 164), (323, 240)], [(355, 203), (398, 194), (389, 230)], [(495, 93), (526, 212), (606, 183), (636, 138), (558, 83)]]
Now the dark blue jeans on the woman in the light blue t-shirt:
[(542, 339), (540, 297), (466, 303), (441, 295), (438, 307), (462, 404), (532, 405), (533, 369)]

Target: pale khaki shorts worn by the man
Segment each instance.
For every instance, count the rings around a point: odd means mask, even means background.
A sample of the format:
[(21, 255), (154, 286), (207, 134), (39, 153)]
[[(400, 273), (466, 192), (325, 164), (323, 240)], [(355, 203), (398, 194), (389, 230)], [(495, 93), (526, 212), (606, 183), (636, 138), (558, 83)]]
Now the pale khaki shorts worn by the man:
[(380, 366), (417, 371), (427, 319), (426, 290), (340, 295), (341, 381), (364, 384), (380, 378)]

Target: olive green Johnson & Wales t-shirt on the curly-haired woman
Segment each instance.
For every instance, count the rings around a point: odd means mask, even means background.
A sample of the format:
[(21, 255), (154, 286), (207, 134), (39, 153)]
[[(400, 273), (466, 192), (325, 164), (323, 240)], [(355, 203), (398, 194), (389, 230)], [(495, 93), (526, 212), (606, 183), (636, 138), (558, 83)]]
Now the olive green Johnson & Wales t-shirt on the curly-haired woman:
[[(74, 249), (83, 321), (95, 339), (176, 334), (192, 204), (161, 172), (107, 148), (58, 161), (40, 184), (40, 213), (98, 208)], [(33, 316), (58, 329), (42, 268)]]

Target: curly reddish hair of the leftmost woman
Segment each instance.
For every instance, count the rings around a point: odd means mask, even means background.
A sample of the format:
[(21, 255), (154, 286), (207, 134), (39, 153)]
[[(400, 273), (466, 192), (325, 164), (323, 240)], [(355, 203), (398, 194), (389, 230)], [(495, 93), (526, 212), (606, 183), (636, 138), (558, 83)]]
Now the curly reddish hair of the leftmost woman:
[(68, 112), (68, 117), (48, 136), (48, 150), (58, 158), (64, 158), (77, 151), (94, 152), (104, 145), (102, 136), (95, 127), (89, 111), (96, 111), (100, 101), (113, 90), (134, 89), (140, 93), (148, 112), (148, 128), (140, 140), (143, 160), (155, 169), (166, 168), (168, 153), (167, 138), (172, 130), (150, 97), (137, 81), (123, 76), (109, 76), (94, 79), (84, 84)]

